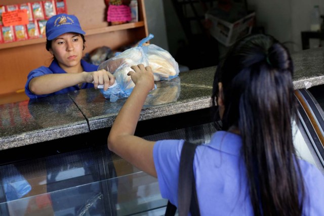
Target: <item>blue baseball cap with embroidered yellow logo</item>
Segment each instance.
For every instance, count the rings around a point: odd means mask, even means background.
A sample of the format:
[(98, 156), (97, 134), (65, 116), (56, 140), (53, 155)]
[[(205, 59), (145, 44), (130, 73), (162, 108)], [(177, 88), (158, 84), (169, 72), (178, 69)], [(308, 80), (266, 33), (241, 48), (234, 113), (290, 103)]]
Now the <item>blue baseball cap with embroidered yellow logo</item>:
[(46, 37), (53, 40), (61, 34), (75, 32), (85, 34), (76, 16), (68, 14), (58, 14), (51, 17), (46, 23)]

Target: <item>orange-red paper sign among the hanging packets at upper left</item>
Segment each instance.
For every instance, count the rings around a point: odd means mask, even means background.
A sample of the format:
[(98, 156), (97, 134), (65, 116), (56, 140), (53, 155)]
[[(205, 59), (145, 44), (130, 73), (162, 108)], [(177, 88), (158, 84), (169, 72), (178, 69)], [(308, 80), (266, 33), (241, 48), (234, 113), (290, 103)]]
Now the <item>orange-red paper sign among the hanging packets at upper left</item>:
[(4, 12), (2, 21), (4, 26), (27, 25), (29, 23), (28, 12), (26, 9)]

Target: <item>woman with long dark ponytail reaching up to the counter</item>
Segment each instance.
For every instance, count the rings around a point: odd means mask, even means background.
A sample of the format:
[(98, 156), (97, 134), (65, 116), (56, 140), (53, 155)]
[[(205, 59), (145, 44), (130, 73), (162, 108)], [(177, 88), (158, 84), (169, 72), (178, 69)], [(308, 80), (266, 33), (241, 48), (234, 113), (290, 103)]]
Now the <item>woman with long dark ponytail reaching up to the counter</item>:
[[(149, 67), (132, 69), (135, 88), (112, 125), (108, 148), (157, 177), (161, 196), (178, 206), (184, 141), (134, 136), (154, 82)], [(324, 215), (324, 177), (297, 158), (293, 145), (292, 75), (288, 50), (263, 34), (239, 40), (218, 65), (212, 105), (223, 128), (196, 148), (193, 161), (201, 215)]]

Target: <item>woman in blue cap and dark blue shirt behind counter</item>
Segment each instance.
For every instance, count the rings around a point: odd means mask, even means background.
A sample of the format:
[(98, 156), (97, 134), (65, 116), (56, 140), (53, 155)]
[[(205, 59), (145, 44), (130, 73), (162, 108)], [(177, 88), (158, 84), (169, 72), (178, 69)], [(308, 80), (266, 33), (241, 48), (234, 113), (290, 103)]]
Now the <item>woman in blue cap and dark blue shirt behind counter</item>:
[(82, 60), (86, 32), (73, 15), (58, 14), (46, 23), (46, 49), (53, 56), (49, 67), (32, 70), (27, 77), (25, 93), (31, 98), (40, 98), (67, 92), (97, 88), (107, 90), (114, 83), (114, 76), (97, 70), (98, 66)]

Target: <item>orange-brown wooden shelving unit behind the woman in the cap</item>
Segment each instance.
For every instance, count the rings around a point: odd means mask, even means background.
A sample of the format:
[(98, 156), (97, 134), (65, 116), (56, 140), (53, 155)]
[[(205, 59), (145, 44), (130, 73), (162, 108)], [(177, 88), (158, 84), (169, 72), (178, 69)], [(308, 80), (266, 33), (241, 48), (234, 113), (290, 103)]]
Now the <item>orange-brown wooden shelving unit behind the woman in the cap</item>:
[[(2, 4), (22, 4), (37, 0), (3, 0)], [(86, 34), (84, 54), (102, 46), (112, 50), (140, 41), (148, 35), (144, 0), (137, 0), (138, 21), (108, 25), (107, 7), (102, 0), (66, 0), (69, 14), (75, 15)], [(0, 103), (25, 99), (16, 91), (25, 88), (27, 75), (40, 66), (48, 67), (53, 55), (46, 50), (46, 38), (0, 44)]]

